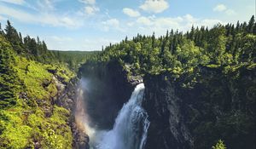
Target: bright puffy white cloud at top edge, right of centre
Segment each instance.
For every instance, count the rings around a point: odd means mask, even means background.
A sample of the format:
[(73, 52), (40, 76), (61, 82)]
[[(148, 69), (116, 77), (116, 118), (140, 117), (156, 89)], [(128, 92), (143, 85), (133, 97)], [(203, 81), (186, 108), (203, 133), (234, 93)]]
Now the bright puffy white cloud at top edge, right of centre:
[(168, 8), (169, 4), (166, 0), (146, 0), (145, 3), (140, 6), (140, 9), (155, 14), (161, 13)]

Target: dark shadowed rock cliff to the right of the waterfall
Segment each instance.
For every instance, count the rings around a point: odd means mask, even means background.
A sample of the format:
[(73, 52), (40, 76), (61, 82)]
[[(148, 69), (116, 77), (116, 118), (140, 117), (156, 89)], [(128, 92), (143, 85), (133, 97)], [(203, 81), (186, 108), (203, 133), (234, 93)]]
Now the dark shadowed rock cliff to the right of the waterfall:
[(146, 149), (211, 148), (219, 139), (228, 148), (255, 148), (255, 69), (199, 72), (193, 88), (182, 87), (184, 78), (166, 80), (168, 74), (144, 77)]

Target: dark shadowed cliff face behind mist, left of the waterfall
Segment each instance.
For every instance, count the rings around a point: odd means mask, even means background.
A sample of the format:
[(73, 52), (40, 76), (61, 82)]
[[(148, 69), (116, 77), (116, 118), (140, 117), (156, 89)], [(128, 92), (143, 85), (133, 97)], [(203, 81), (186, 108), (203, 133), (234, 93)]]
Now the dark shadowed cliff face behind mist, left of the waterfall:
[(98, 129), (112, 129), (115, 117), (129, 100), (135, 84), (128, 81), (127, 72), (116, 61), (86, 63), (79, 72), (85, 86), (90, 124)]

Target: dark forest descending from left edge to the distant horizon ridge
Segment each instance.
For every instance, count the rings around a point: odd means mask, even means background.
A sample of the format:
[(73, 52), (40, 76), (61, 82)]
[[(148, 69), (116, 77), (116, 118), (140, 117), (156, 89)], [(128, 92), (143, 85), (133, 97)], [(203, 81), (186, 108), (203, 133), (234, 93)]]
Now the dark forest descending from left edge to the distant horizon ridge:
[(70, 68), (77, 68), (79, 64), (84, 63), (86, 60), (91, 59), (97, 52), (91, 51), (58, 51), (49, 50), (44, 41), (39, 37), (22, 37), (20, 32), (17, 32), (15, 27), (11, 25), (9, 20), (3, 30), (0, 24), (0, 35), (9, 41), (15, 54), (26, 57), (27, 60), (36, 60), (44, 64), (50, 63), (67, 63)]

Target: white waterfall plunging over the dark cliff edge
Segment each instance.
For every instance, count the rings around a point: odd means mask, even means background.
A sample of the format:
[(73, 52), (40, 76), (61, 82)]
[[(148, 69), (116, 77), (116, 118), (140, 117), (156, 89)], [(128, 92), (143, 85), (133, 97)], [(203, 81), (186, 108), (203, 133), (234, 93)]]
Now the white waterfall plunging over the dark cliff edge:
[(142, 107), (143, 92), (144, 84), (138, 84), (132, 92), (131, 99), (119, 111), (113, 129), (97, 136), (93, 148), (143, 149), (149, 126), (148, 114)]

